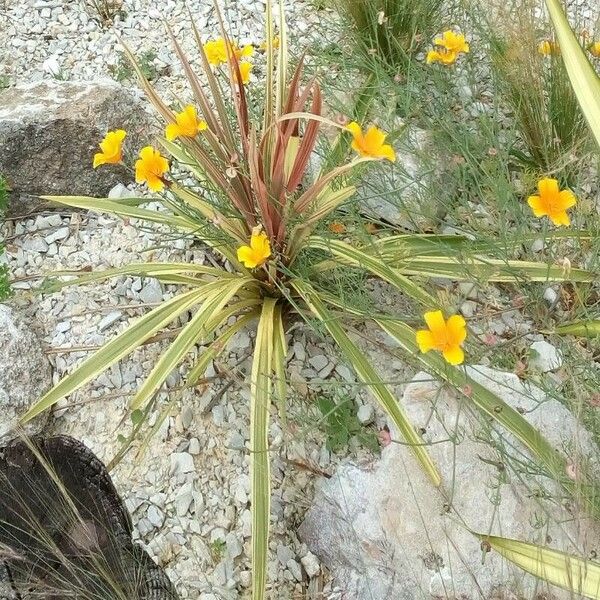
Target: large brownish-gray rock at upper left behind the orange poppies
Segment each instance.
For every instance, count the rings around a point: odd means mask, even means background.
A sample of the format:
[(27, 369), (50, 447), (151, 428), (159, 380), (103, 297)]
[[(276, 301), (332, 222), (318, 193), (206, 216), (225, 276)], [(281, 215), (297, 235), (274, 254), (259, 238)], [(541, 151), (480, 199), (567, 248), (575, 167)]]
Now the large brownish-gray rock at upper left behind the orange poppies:
[(0, 173), (9, 183), (9, 213), (30, 212), (38, 195), (105, 196), (131, 170), (92, 168), (107, 131), (125, 129), (137, 154), (149, 136), (144, 104), (115, 82), (44, 81), (0, 92)]

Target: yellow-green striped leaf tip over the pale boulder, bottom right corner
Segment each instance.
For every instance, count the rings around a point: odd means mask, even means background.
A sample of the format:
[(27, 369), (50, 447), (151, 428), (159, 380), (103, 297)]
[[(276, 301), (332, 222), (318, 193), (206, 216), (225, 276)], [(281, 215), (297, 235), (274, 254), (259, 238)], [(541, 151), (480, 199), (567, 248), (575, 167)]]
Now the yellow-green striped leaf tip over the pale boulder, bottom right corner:
[(600, 564), (537, 544), (475, 534), (524, 571), (572, 594), (600, 600)]

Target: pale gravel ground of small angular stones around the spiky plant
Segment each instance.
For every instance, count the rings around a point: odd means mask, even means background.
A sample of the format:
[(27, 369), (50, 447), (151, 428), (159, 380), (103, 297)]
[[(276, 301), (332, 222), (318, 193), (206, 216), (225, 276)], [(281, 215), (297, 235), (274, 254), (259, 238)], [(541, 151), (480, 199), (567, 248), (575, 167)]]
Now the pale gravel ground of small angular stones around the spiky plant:
[[(188, 0), (187, 4), (201, 30), (214, 32), (216, 18), (211, 3)], [(156, 83), (161, 92), (185, 95), (184, 79), (160, 23), (166, 18), (184, 48), (193, 52), (183, 2), (166, 0), (159, 6), (149, 0), (126, 0), (123, 10), (112, 25), (107, 25), (96, 18), (84, 0), (4, 0), (4, 6), (0, 0), (0, 76), (6, 76), (11, 84), (113, 77), (122, 67), (117, 39), (122, 36), (138, 56), (145, 51), (154, 52), (149, 65), (160, 73)], [(330, 15), (313, 10), (308, 0), (289, 3), (289, 10), (288, 20), (293, 23), (300, 43), (319, 19)], [(240, 43), (262, 41), (263, 11), (262, 1), (226, 3), (224, 16)], [(134, 190), (133, 186), (119, 183), (110, 194), (124, 197), (139, 193)], [(12, 304), (38, 333), (53, 366), (55, 382), (105, 340), (122, 331), (130, 318), (170, 297), (172, 289), (153, 280), (118, 278), (39, 295), (34, 289), (39, 285), (40, 274), (55, 269), (102, 269), (144, 260), (211, 261), (210, 255), (188, 240), (169, 238), (164, 244), (159, 235), (141, 229), (135, 221), (64, 210), (39, 211), (9, 220), (3, 234), (7, 260), (16, 278), (17, 293)], [(385, 290), (375, 292), (380, 299), (388, 299)], [(479, 308), (477, 290), (473, 290), (472, 284), (464, 284), (460, 294), (464, 296), (463, 314), (474, 317)], [(548, 288), (544, 298), (548, 304), (556, 304), (557, 293)], [(498, 298), (499, 306), (506, 309), (506, 301)], [(477, 322), (473, 325), (477, 332)], [(491, 325), (487, 324), (486, 331), (498, 336), (507, 332), (525, 335), (530, 332), (530, 323), (518, 310), (503, 310)], [(484, 334), (482, 328), (479, 332)], [(333, 566), (332, 562), (326, 560), (322, 564), (296, 532), (313, 504), (313, 486), (319, 475), (334, 477), (326, 493), (318, 496), (321, 504), (313, 508), (313, 519), (315, 511), (323, 509), (323, 496), (331, 498), (337, 492), (346, 493), (335, 475), (341, 458), (326, 449), (323, 428), (317, 424), (316, 396), (331, 394), (335, 388), (356, 399), (359, 419), (370, 426), (373, 434), (382, 428), (384, 421), (354, 386), (352, 373), (336, 358), (331, 346), (307, 327), (295, 329), (289, 341), (293, 401), (287, 424), (274, 419), (270, 431), (274, 449), (271, 597), (363, 600), (366, 596), (345, 595), (348, 590), (343, 579), (340, 580), (346, 574), (344, 569), (338, 571), (337, 581), (330, 580), (325, 566)], [(528, 343), (537, 344), (534, 349), (539, 371), (560, 367), (560, 353), (552, 346), (548, 348), (541, 336), (532, 336)], [(73, 435), (109, 461), (122, 445), (119, 436), (127, 435), (131, 429), (128, 399), (165, 344), (145, 346), (84, 391), (74, 394), (68, 403), (60, 404), (47, 430)], [(161, 413), (166, 412), (158, 432), (145, 452), (140, 456), (127, 454), (114, 470), (115, 483), (133, 515), (136, 536), (157, 562), (165, 566), (182, 598), (233, 600), (249, 593), (249, 390), (245, 375), (251, 347), (251, 333), (238, 334), (228, 353), (209, 369), (208, 381), (193, 391), (181, 388), (185, 369), (172, 374), (150, 417), (151, 423), (157, 423)], [(391, 360), (384, 351), (371, 348), (370, 352), (384, 378), (397, 382), (396, 391), (401, 396), (412, 371)], [(412, 397), (416, 397), (414, 386)], [(543, 402), (544, 398), (536, 400), (537, 404)], [(366, 487), (377, 488), (381, 479), (365, 475), (377, 471), (375, 456), (357, 444), (351, 444), (349, 453), (364, 467), (360, 477), (368, 480)], [(385, 460), (391, 460), (389, 454)], [(452, 461), (448, 464), (451, 468)], [(378, 473), (385, 480), (387, 471), (379, 469)], [(353, 477), (358, 480), (354, 472), (349, 478)], [(395, 489), (393, 482), (388, 483)], [(372, 544), (385, 543), (385, 535), (379, 535), (378, 531), (374, 538), (358, 538), (360, 528), (346, 519), (356, 518), (349, 507), (354, 510), (358, 501), (356, 497), (347, 500), (347, 504), (339, 502), (342, 509), (332, 519), (349, 527), (344, 530), (340, 526), (338, 533), (343, 531), (345, 538), (353, 542), (364, 541), (365, 554), (369, 554)], [(437, 508), (432, 502), (432, 510)], [(378, 510), (378, 506), (372, 508), (370, 515), (376, 515)], [(324, 509), (322, 512), (325, 514)], [(310, 526), (309, 522), (305, 530)], [(315, 540), (314, 533), (310, 535), (313, 549), (322, 548), (324, 543), (335, 546), (338, 541), (335, 536), (324, 538), (323, 542)], [(403, 543), (402, 535), (410, 537), (415, 533), (399, 533), (398, 547)], [(416, 560), (419, 566), (424, 561), (422, 556)], [(371, 578), (374, 583), (377, 580), (378, 586), (371, 589), (396, 589), (392, 584), (390, 588), (384, 585), (387, 580), (382, 573), (389, 574), (390, 565), (381, 569), (373, 569), (372, 565), (362, 568), (364, 561), (363, 554), (351, 565), (353, 578)], [(381, 585), (380, 580), (384, 582)]]

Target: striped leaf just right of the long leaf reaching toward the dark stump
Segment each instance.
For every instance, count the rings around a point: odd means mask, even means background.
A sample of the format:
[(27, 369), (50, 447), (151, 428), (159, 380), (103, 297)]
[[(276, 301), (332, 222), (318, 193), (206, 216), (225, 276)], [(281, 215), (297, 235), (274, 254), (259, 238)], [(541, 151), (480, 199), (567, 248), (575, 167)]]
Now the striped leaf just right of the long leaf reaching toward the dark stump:
[(219, 282), (220, 285), (206, 297), (196, 314), (154, 365), (150, 375), (132, 399), (131, 410), (138, 410), (146, 406), (171, 371), (179, 365), (185, 355), (192, 349), (198, 338), (208, 333), (206, 329), (207, 321), (218, 314), (239, 289), (249, 281), (250, 277)]

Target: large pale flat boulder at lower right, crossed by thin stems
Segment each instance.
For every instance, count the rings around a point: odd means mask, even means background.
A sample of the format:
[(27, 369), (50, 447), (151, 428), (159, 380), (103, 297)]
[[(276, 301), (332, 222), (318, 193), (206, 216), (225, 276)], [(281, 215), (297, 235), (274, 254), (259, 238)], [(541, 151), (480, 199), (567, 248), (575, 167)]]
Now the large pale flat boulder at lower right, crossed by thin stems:
[[(512, 373), (468, 370), (522, 410), (558, 451), (578, 448), (585, 458), (597, 460), (591, 435), (560, 402)], [(522, 464), (526, 456), (518, 441), (504, 432), (500, 446), (505, 454), (494, 450), (482, 434), (494, 439), (499, 434), (473, 415), (464, 397), (430, 380), (428, 374), (418, 374), (402, 405), (415, 427), (426, 428), (441, 490), (433, 487), (406, 446), (390, 444), (374, 466), (347, 463), (331, 479), (321, 480), (300, 526), (300, 539), (330, 570), (333, 585), (344, 590), (347, 600), (545, 596), (548, 586), (499, 554), (491, 552), (482, 561), (480, 542), (467, 527), (525, 541), (551, 540), (554, 548), (584, 556), (598, 547), (599, 527), (581, 511), (555, 502), (561, 492), (549, 480), (531, 475), (524, 482), (523, 472), (512, 476), (506, 465), (511, 458)], [(552, 589), (547, 597), (567, 600), (571, 595)]]

